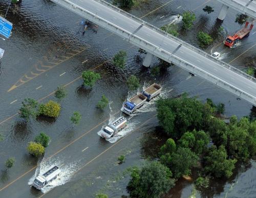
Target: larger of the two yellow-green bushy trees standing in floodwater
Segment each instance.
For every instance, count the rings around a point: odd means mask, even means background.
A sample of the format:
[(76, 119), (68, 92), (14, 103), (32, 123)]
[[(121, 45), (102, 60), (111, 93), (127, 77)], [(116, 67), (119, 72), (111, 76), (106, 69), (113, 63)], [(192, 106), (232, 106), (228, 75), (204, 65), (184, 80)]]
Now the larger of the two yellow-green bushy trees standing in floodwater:
[(38, 112), (40, 115), (56, 118), (59, 116), (60, 110), (61, 107), (58, 103), (49, 101), (46, 104), (40, 104)]

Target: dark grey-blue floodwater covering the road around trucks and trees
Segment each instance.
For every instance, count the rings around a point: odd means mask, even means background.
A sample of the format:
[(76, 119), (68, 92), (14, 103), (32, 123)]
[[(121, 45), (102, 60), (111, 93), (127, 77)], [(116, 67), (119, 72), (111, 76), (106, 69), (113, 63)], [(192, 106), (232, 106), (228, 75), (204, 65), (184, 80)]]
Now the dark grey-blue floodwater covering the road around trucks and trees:
[[(204, 3), (206, 1), (152, 0), (129, 12), (161, 27), (173, 21), (174, 15), (193, 10), (197, 16), (195, 27), (188, 32), (181, 31), (179, 38), (198, 46), (198, 31), (208, 32), (215, 41), (204, 49), (207, 53), (221, 52), (223, 61), (231, 62), (242, 70), (252, 66), (256, 61), (256, 34), (251, 34), (235, 48), (225, 47), (222, 42), (227, 33), (241, 28), (234, 23), (237, 12), (229, 10), (221, 24), (224, 30), (219, 33), (220, 24), (216, 23), (216, 18), (221, 5), (208, 1), (205, 5), (215, 10), (208, 15), (202, 11)], [(7, 4), (8, 1), (0, 2), (0, 14), (5, 14)], [(158, 125), (154, 101), (141, 108), (129, 120), (129, 128), (112, 143), (101, 139), (97, 132), (109, 122), (110, 117), (121, 115), (119, 110), (126, 97), (136, 94), (136, 91), (128, 93), (125, 85), (126, 78), (132, 74), (139, 77), (140, 90), (157, 82), (163, 86), (163, 97), (173, 97), (186, 91), (202, 101), (210, 97), (215, 103), (224, 103), (226, 116), (235, 114), (242, 117), (250, 113), (250, 104), (238, 101), (236, 96), (198, 77), (191, 77), (177, 66), (168, 68), (159, 77), (152, 77), (136, 59), (140, 55), (138, 48), (103, 28), (99, 28), (97, 34), (89, 29), (82, 35), (79, 24), (83, 19), (50, 1), (23, 0), (20, 7), (9, 10), (7, 19), (13, 23), (14, 30), (10, 39), (0, 39), (0, 47), (5, 49), (0, 64), (0, 133), (5, 136), (0, 142), (1, 197), (81, 197), (85, 194), (93, 197), (102, 189), (110, 197), (126, 194), (128, 180), (122, 178), (121, 172), (129, 166), (143, 163), (145, 152), (151, 150), (151, 146), (142, 142)], [(255, 31), (254, 28), (252, 32)], [(124, 70), (115, 68), (111, 63), (111, 58), (121, 49), (128, 55)], [(155, 65), (157, 63), (155, 60)], [(81, 87), (80, 75), (86, 69), (94, 69), (101, 75), (101, 80), (90, 90)], [(68, 96), (61, 102), (62, 110), (57, 119), (39, 117), (25, 123), (16, 115), (26, 97), (41, 102), (54, 100), (51, 93), (59, 85), (66, 85)], [(104, 111), (95, 108), (102, 94), (111, 101), (110, 108)], [(74, 111), (82, 114), (82, 120), (80, 125), (72, 128), (69, 120)], [(52, 140), (44, 159), (37, 160), (28, 154), (26, 147), (41, 131)], [(123, 154), (126, 162), (118, 165), (117, 158)], [(10, 156), (15, 157), (16, 163), (6, 170), (4, 162)], [(47, 193), (30, 188), (28, 183), (31, 183), (35, 172), (45, 171), (53, 163), (62, 165), (63, 175), (52, 187), (44, 189)], [(232, 180), (219, 185), (216, 182), (209, 192), (204, 193), (216, 197), (226, 194), (227, 197), (253, 197), (254, 175), (255, 163), (252, 162), (251, 167), (238, 170)], [(171, 190), (170, 197), (187, 197), (192, 191), (193, 185), (181, 181)], [(197, 196), (200, 196), (199, 192)]]

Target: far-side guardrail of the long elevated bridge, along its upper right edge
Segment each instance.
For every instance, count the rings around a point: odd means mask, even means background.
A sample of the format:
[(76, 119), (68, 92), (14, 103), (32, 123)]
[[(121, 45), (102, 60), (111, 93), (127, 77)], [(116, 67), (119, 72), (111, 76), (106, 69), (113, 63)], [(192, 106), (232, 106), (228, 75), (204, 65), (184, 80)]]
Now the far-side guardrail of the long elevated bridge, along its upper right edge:
[(185, 42), (185, 41), (183, 41), (183, 40), (181, 40), (181, 39), (179, 39), (179, 38), (177, 38), (177, 37), (175, 37), (173, 35), (170, 35), (170, 34), (164, 32), (164, 31), (162, 31), (161, 29), (153, 26), (152, 24), (150, 24), (150, 23), (148, 23), (148, 22), (146, 22), (146, 21), (144, 21), (144, 20), (142, 20), (142, 19), (140, 19), (140, 18), (138, 18), (138, 17), (136, 17), (136, 16), (134, 16), (134, 15), (128, 13), (128, 12), (125, 12), (125, 11), (117, 8), (116, 6), (113, 6), (112, 4), (110, 4), (108, 2), (105, 2), (103, 0), (94, 0), (94, 1), (98, 2), (100, 4), (103, 4), (105, 6), (108, 6), (111, 9), (113, 9), (113, 10), (119, 12), (119, 13), (122, 13), (122, 14), (130, 17), (130, 18), (133, 18), (137, 22), (139, 22), (141, 24), (144, 24), (144, 26), (146, 26), (147, 28), (153, 29), (154, 31), (158, 32), (159, 34), (161, 34), (161, 35), (163, 35), (163, 36), (165, 36), (167, 38), (171, 38), (171, 39), (175, 40), (176, 42), (178, 42), (179, 44), (184, 45), (185, 47), (189, 48), (190, 50), (196, 51), (196, 52), (198, 52), (198, 54), (203, 55), (204, 57), (210, 59), (211, 61), (217, 62), (221, 66), (223, 66), (223, 67), (225, 67), (225, 68), (227, 68), (227, 69), (229, 69), (229, 70), (231, 70), (231, 71), (233, 71), (235, 73), (238, 73), (239, 75), (242, 75), (243, 77), (245, 77), (245, 78), (249, 79), (250, 81), (253, 81), (253, 82), (256, 83), (256, 79), (254, 77), (248, 75), (247, 73), (241, 71), (240, 69), (238, 69), (236, 67), (233, 67), (233, 66), (231, 66), (231, 65), (229, 65), (229, 64), (227, 64), (227, 63), (225, 63), (225, 62), (223, 62), (221, 60), (218, 60), (218, 59), (212, 57), (211, 55), (209, 55), (208, 53), (200, 50), (199, 48), (197, 48), (197, 47), (195, 47), (195, 46), (193, 46), (193, 45), (191, 45), (191, 44), (189, 44), (189, 43), (187, 43), (187, 42)]

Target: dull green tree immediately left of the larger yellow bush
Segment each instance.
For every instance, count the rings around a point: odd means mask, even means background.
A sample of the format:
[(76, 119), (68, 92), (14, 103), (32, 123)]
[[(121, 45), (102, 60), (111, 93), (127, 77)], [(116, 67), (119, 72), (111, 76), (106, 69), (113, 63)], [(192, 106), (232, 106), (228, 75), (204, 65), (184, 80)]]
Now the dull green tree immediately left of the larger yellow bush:
[(22, 102), (22, 107), (19, 109), (19, 116), (28, 121), (31, 117), (35, 118), (37, 113), (38, 103), (32, 98), (25, 98)]

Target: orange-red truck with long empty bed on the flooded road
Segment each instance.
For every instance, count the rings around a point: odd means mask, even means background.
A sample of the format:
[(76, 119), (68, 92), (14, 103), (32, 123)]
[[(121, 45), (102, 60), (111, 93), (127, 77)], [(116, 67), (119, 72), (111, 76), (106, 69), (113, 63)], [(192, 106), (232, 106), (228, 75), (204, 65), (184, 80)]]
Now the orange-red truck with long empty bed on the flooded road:
[(248, 24), (249, 22), (247, 21), (245, 23), (245, 27), (242, 28), (241, 30), (239, 30), (236, 34), (234, 34), (233, 36), (228, 36), (227, 39), (225, 40), (225, 45), (231, 47), (233, 46), (235, 43), (237, 43), (239, 40), (241, 40), (242, 38), (244, 38), (245, 36), (249, 35), (250, 31), (253, 28), (253, 24), (250, 25), (250, 28), (248, 29)]

